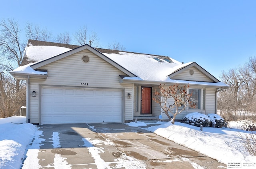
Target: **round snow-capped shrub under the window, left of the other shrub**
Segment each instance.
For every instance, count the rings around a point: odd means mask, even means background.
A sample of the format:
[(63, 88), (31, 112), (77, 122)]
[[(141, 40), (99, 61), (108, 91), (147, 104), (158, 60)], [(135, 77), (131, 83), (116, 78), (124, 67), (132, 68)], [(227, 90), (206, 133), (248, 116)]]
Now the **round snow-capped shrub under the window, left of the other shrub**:
[(207, 115), (198, 112), (189, 113), (185, 115), (183, 119), (186, 123), (198, 127), (200, 127), (200, 125), (203, 125), (203, 127), (210, 125), (210, 118)]

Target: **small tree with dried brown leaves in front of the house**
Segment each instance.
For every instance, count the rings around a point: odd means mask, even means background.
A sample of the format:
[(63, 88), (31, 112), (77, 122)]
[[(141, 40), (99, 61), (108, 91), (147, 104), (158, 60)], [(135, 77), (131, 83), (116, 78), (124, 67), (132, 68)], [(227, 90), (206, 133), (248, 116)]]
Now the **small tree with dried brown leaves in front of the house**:
[[(188, 93), (189, 85), (184, 87), (179, 87), (178, 84), (170, 85), (165, 87), (165, 85), (159, 86), (160, 92), (155, 90), (152, 99), (160, 105), (162, 112), (167, 115), (167, 117), (174, 120), (177, 114), (181, 113), (186, 107), (196, 107), (196, 103), (190, 101), (192, 93)], [(168, 112), (172, 113), (173, 118), (170, 117)]]

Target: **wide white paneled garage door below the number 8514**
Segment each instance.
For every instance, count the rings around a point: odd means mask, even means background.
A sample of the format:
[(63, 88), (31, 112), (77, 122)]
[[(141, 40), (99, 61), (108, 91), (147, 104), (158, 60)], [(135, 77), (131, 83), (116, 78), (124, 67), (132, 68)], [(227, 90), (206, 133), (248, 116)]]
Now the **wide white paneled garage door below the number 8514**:
[(122, 90), (42, 87), (41, 124), (122, 122)]

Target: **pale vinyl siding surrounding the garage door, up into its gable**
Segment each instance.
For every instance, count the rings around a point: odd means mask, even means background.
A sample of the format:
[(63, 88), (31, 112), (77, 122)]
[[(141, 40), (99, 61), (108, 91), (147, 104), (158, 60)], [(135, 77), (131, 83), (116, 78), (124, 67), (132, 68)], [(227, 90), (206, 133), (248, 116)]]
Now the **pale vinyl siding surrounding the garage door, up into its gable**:
[[(90, 62), (82, 62), (82, 56), (88, 55)], [(39, 123), (39, 84), (99, 89), (122, 89), (124, 91), (124, 120), (133, 120), (132, 99), (126, 97), (132, 93), (132, 84), (120, 84), (119, 75), (125, 75), (88, 50), (84, 50), (52, 62), (39, 69), (48, 70), (46, 80), (30, 79), (30, 91), (35, 90), (37, 97), (30, 95), (30, 123)], [(86, 85), (81, 85), (86, 83)], [(88, 85), (87, 85), (88, 84)]]

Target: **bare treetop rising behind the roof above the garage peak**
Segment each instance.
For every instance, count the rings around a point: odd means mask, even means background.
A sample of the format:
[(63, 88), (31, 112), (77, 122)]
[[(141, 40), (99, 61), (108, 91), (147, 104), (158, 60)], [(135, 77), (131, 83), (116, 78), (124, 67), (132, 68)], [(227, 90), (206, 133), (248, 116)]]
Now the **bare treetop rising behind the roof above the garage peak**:
[(89, 35), (87, 26), (80, 27), (74, 37), (78, 45), (82, 46), (85, 44), (90, 44), (93, 47), (99, 46), (98, 34), (96, 34), (96, 32), (92, 32)]

